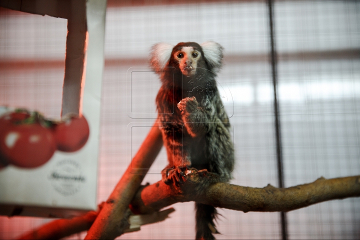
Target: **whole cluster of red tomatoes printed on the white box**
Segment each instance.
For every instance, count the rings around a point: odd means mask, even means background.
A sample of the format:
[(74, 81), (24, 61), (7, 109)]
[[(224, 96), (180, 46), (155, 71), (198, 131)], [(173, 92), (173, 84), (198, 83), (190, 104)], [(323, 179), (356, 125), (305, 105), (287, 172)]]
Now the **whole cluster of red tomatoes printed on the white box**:
[(83, 115), (68, 114), (56, 121), (36, 111), (7, 111), (0, 116), (0, 169), (8, 164), (25, 168), (41, 166), (55, 150), (79, 150), (88, 136), (89, 126)]

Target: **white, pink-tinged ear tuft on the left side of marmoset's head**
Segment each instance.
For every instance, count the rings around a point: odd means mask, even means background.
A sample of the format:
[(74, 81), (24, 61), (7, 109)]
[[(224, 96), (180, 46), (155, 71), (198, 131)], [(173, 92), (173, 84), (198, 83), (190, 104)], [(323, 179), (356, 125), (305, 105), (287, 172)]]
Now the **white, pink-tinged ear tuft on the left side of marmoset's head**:
[(164, 68), (170, 60), (173, 45), (160, 42), (151, 47), (150, 65), (152, 67)]

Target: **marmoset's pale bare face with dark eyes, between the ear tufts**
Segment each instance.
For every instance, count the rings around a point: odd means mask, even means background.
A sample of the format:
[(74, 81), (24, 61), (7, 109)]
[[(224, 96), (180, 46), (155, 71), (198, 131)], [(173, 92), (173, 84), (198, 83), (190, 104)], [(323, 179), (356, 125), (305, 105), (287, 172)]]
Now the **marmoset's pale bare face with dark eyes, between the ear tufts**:
[(201, 52), (192, 46), (183, 46), (180, 50), (175, 51), (172, 56), (179, 65), (183, 75), (191, 76), (196, 72), (197, 63), (201, 59)]

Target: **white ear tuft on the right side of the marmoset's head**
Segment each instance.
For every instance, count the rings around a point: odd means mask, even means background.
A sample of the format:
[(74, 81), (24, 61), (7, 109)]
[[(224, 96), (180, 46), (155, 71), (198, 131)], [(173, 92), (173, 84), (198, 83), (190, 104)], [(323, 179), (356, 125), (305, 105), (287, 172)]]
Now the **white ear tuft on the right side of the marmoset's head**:
[(200, 44), (204, 57), (210, 66), (210, 70), (217, 72), (220, 70), (222, 65), (222, 50), (223, 47), (214, 41), (205, 41)]

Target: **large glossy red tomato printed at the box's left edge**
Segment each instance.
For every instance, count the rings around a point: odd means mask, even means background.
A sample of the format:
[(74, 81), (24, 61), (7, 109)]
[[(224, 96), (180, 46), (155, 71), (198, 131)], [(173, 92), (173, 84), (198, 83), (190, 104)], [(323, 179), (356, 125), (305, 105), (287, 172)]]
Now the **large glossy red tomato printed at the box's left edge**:
[(37, 122), (21, 123), (27, 116), (12, 112), (0, 118), (0, 153), (10, 164), (37, 167), (51, 158), (56, 144), (50, 129)]

